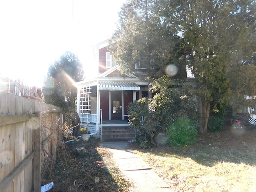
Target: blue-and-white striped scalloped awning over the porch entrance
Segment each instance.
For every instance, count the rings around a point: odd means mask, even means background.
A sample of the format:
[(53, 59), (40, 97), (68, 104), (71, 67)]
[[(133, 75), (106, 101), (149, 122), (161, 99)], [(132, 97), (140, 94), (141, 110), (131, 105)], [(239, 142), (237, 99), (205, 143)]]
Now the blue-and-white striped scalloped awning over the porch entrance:
[(140, 90), (136, 83), (100, 82), (99, 90)]

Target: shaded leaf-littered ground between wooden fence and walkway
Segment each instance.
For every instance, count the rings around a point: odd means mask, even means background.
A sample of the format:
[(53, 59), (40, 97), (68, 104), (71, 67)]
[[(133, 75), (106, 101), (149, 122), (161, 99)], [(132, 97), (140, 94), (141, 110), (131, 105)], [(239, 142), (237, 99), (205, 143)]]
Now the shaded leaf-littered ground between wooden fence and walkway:
[[(74, 140), (63, 144), (58, 149), (56, 161), (44, 174), (42, 185), (54, 182), (50, 192), (120, 191), (98, 148), (101, 147), (96, 138), (90, 138), (88, 142)], [(102, 151), (102, 154), (107, 153)]]

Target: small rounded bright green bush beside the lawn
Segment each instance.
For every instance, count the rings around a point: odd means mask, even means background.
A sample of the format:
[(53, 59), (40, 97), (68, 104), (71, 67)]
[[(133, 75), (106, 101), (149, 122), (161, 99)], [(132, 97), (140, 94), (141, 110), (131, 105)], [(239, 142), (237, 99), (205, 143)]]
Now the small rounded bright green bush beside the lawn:
[(168, 142), (171, 146), (196, 142), (196, 123), (188, 118), (179, 118), (168, 129)]

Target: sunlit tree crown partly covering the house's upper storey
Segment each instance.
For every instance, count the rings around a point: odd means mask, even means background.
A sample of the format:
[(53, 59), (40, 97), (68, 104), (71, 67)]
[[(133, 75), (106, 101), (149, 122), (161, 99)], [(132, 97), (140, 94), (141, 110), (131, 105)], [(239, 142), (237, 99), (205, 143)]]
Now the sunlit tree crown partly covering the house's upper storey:
[(109, 49), (122, 72), (130, 72), (137, 64), (150, 77), (163, 76), (174, 47), (175, 39), (170, 36), (175, 32), (159, 17), (156, 0), (128, 0), (119, 18)]

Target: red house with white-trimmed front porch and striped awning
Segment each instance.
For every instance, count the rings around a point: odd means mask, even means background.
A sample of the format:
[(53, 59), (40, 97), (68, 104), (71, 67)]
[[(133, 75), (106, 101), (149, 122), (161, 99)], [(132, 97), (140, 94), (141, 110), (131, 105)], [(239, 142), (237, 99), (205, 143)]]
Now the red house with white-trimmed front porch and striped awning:
[(148, 83), (131, 73), (121, 77), (107, 45), (108, 40), (94, 46), (98, 77), (75, 83), (77, 112), (81, 126), (87, 126), (91, 135), (102, 136), (105, 141), (128, 140), (134, 138), (134, 128), (128, 124), (127, 106), (148, 96)]

